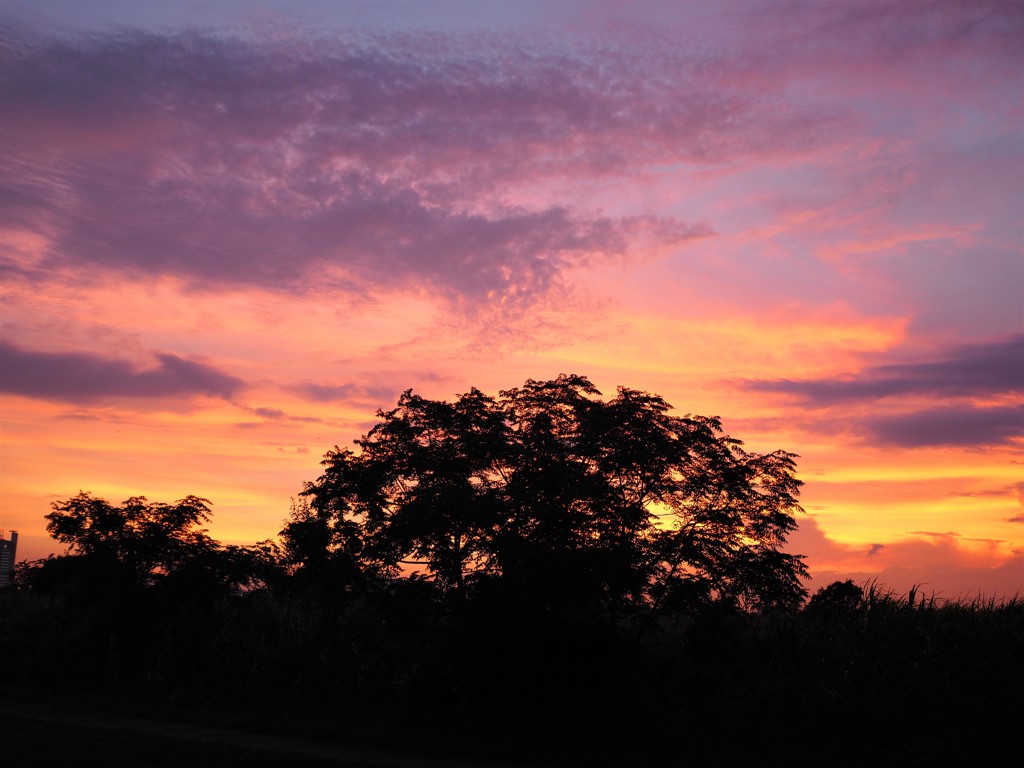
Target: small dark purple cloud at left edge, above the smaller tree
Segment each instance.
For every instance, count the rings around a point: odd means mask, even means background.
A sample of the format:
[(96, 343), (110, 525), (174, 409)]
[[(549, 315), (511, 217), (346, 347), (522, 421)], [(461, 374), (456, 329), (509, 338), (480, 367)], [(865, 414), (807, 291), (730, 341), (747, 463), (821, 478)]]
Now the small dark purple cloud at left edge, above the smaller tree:
[(130, 362), (85, 352), (35, 352), (0, 342), (0, 391), (46, 400), (85, 403), (111, 397), (229, 399), (241, 379), (173, 354), (157, 354), (157, 367), (139, 371)]

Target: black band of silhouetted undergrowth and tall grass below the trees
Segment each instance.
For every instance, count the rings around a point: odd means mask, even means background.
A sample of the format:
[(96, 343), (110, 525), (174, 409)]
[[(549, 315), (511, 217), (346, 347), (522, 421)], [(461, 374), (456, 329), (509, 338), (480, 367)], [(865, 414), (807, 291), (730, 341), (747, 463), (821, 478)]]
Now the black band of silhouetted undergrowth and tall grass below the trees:
[(479, 600), (445, 608), (424, 580), (344, 605), (268, 588), (200, 604), (14, 591), (0, 653), (19, 697), (564, 765), (984, 764), (1024, 694), (1020, 601), (717, 606), (637, 640)]

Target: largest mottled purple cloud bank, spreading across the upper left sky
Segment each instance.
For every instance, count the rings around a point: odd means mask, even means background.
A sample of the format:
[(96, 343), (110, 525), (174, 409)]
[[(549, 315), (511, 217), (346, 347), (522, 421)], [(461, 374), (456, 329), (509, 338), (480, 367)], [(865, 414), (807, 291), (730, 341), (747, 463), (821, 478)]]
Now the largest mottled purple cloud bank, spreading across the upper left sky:
[(792, 152), (820, 123), (688, 84), (671, 59), (644, 77), (628, 56), (495, 42), (479, 58), (466, 46), (481, 41), (456, 37), (12, 42), (9, 223), (52, 239), (44, 267), (290, 291), (415, 285), (515, 306), (591, 259), (711, 229), (523, 208), (507, 184)]

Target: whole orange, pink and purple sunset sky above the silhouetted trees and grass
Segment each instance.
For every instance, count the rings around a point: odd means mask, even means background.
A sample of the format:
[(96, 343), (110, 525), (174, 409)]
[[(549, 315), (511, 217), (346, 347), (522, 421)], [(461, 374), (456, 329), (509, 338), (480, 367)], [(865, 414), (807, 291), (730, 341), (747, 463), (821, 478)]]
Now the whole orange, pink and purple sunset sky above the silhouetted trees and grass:
[(1019, 2), (4, 0), (0, 270), (18, 559), (577, 373), (798, 454), (812, 590), (1024, 593)]

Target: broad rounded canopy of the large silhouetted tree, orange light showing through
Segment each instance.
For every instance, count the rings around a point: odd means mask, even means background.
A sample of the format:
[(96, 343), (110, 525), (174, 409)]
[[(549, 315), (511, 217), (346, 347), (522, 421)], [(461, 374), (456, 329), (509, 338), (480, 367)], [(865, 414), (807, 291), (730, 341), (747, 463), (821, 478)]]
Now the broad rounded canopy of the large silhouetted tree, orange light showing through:
[(646, 614), (673, 602), (798, 604), (795, 456), (754, 454), (717, 418), (582, 376), (454, 401), (404, 392), (355, 450), (327, 454), (282, 531), (300, 569), (397, 577), (452, 596), (500, 583), (547, 603)]

